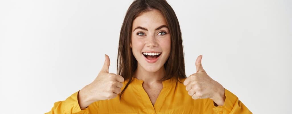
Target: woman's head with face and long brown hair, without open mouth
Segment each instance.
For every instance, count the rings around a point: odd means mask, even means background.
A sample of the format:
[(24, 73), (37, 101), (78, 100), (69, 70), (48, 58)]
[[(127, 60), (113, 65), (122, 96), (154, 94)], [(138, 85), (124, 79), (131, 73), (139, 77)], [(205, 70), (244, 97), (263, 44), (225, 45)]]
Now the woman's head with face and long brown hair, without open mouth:
[[(162, 28), (155, 30), (157, 27)], [(143, 58), (142, 53), (146, 51), (161, 52), (161, 58), (151, 64)], [(161, 80), (173, 76), (176, 79), (186, 78), (180, 26), (175, 12), (165, 0), (135, 0), (126, 12), (117, 58), (117, 74), (129, 80), (125, 89), (131, 82), (138, 62), (149, 72), (164, 67), (166, 74)]]

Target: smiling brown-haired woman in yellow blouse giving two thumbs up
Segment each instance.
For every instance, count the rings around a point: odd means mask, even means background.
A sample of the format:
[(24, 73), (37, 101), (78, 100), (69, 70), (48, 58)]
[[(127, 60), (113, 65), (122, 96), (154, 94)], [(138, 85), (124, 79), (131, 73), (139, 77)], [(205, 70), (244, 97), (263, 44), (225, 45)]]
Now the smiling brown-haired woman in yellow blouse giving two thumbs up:
[(175, 12), (165, 0), (136, 0), (122, 24), (117, 74), (110, 60), (91, 83), (48, 113), (251, 113), (238, 98), (211, 79), (196, 60), (186, 77), (183, 43)]

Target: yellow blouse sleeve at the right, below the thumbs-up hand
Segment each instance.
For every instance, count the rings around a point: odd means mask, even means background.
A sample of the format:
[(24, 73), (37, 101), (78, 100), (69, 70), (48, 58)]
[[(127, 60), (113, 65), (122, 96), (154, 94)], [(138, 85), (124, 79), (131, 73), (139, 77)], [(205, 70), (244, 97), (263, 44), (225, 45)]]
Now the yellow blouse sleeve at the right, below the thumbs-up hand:
[(238, 97), (225, 89), (223, 106), (215, 106), (212, 99), (204, 99), (204, 113), (206, 114), (252, 114)]

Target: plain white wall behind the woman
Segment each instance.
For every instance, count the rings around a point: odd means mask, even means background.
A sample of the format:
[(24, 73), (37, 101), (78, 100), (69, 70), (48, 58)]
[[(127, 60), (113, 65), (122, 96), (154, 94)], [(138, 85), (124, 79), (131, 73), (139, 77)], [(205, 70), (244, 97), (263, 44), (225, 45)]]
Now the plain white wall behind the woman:
[[(1, 113), (46, 113), (91, 83), (104, 54), (116, 73), (132, 0), (1, 0)], [(291, 0), (168, 0), (183, 35), (187, 76), (208, 75), (255, 114), (291, 113)]]

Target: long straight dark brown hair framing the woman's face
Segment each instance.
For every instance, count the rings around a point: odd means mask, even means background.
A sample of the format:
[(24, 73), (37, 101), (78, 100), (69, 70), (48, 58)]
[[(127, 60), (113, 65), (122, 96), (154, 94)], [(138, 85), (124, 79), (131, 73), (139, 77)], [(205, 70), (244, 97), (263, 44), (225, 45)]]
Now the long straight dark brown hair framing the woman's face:
[[(180, 25), (175, 12), (165, 0), (135, 0), (128, 8), (120, 32), (117, 74), (124, 77), (125, 80), (128, 80), (121, 95), (131, 83), (133, 73), (137, 69), (137, 60), (130, 47), (133, 20), (138, 17), (140, 13), (152, 9), (159, 10), (161, 14), (164, 15), (171, 35), (171, 51), (164, 64), (166, 75), (161, 80), (167, 80), (173, 76), (177, 80), (178, 78), (186, 78), (183, 41)], [(178, 80), (178, 82), (180, 81)]]

